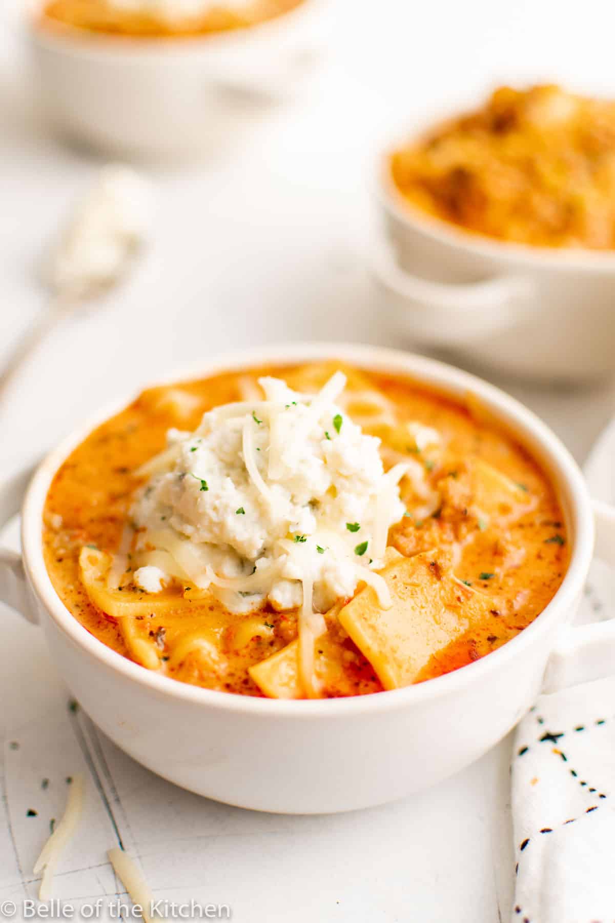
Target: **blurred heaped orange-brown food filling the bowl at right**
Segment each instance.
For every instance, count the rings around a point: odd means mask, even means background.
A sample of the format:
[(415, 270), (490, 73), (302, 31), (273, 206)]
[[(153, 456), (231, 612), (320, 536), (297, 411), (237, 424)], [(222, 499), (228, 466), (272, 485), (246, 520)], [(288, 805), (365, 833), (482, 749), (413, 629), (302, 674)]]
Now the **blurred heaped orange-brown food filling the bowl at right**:
[(615, 246), (615, 102), (501, 87), (476, 112), (396, 150), (405, 201), (531, 246)]

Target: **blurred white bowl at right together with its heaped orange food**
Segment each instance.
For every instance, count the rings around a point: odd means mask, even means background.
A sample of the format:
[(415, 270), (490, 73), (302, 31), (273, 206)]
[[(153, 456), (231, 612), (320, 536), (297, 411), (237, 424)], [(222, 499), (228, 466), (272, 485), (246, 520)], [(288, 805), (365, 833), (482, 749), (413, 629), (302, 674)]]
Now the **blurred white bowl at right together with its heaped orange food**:
[(615, 371), (615, 103), (498, 90), (392, 144), (376, 183), (396, 333), (549, 382)]

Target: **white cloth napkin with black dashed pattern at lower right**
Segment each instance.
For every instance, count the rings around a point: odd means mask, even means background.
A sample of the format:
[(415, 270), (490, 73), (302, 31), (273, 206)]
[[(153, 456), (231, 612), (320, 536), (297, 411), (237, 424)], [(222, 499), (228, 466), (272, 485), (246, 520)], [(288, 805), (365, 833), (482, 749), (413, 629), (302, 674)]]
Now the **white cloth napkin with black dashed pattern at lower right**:
[(615, 920), (615, 677), (541, 696), (512, 765), (514, 923)]

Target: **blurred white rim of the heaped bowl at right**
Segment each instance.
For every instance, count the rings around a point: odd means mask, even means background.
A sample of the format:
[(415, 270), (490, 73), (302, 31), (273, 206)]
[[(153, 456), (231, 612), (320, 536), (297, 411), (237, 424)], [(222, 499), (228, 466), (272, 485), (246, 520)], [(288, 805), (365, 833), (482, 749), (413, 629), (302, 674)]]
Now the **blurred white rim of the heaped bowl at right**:
[(584, 247), (552, 247), (534, 246), (531, 244), (515, 243), (514, 241), (499, 240), (488, 234), (468, 231), (444, 218), (421, 211), (418, 206), (408, 202), (402, 192), (397, 188), (391, 174), (391, 157), (397, 151), (408, 145), (408, 142), (418, 141), (429, 130), (446, 122), (449, 116), (437, 119), (432, 124), (407, 131), (405, 134), (397, 133), (396, 140), (385, 145), (384, 150), (378, 154), (376, 163), (376, 198), (384, 210), (392, 214), (396, 221), (408, 225), (419, 231), (435, 243), (447, 246), (457, 246), (471, 250), (485, 258), (497, 258), (518, 267), (526, 263), (528, 267), (542, 267), (545, 269), (570, 271), (570, 272), (603, 272), (615, 271), (615, 250), (590, 250)]

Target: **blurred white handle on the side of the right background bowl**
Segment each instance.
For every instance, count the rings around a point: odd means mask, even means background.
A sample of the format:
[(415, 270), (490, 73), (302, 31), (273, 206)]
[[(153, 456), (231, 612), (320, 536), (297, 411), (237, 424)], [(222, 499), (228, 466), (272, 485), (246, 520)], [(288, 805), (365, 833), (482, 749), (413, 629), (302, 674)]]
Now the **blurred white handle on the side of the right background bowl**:
[(436, 282), (402, 269), (390, 246), (373, 246), (371, 267), (384, 291), (405, 302), (408, 331), (433, 344), (458, 346), (509, 330), (528, 317), (536, 285), (525, 276)]

